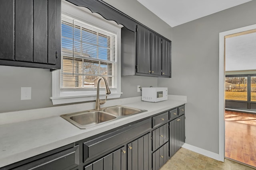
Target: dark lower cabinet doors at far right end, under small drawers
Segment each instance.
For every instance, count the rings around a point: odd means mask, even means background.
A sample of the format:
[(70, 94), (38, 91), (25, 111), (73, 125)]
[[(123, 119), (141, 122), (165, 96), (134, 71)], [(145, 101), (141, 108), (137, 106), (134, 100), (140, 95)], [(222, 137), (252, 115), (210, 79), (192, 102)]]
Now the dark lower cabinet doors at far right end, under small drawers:
[(185, 115), (170, 121), (170, 156), (185, 143)]

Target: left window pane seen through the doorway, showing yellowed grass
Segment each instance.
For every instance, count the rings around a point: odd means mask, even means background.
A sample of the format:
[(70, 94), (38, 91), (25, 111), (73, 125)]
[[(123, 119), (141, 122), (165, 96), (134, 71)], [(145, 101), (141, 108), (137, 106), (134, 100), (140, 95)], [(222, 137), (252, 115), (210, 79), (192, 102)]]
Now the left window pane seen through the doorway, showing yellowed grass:
[(247, 101), (247, 77), (226, 77), (225, 99)]

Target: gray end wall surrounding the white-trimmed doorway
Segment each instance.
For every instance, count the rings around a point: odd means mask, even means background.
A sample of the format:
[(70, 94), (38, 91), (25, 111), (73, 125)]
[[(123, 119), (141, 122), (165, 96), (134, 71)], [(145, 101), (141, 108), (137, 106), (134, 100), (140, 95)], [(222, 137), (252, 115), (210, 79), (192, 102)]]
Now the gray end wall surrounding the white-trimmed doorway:
[(219, 33), (256, 24), (256, 1), (172, 29), (172, 78), (158, 78), (169, 94), (188, 96), (186, 143), (218, 153)]

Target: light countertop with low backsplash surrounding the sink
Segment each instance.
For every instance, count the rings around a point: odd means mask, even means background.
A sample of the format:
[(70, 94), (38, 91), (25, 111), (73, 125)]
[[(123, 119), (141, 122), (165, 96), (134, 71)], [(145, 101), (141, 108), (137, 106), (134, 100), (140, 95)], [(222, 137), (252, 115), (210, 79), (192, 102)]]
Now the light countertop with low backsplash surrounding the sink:
[(109, 100), (106, 102), (107, 105), (101, 107), (123, 105), (148, 111), (90, 129), (79, 129), (59, 115), (92, 109), (93, 102), (0, 113), (0, 167), (172, 109), (186, 102), (186, 96), (175, 95), (168, 95), (168, 100), (157, 103), (142, 102), (140, 97)]

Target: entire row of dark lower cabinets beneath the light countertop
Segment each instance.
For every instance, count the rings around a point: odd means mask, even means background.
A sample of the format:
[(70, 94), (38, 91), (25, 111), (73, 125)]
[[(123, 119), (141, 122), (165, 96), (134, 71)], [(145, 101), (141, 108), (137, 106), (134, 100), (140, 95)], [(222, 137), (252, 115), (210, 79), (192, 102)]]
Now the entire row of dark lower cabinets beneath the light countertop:
[(184, 143), (183, 105), (0, 170), (159, 170)]

